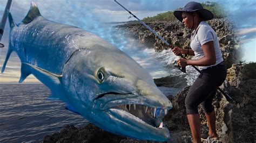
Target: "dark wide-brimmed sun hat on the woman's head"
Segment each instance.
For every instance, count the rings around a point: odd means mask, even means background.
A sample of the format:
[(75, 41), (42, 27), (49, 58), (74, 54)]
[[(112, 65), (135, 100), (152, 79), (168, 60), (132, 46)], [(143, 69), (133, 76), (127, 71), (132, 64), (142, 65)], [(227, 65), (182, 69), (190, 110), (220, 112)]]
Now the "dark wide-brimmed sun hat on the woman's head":
[(182, 10), (175, 10), (173, 15), (182, 22), (182, 12), (199, 12), (203, 20), (211, 20), (214, 18), (213, 13), (203, 8), (203, 5), (197, 2), (188, 2)]

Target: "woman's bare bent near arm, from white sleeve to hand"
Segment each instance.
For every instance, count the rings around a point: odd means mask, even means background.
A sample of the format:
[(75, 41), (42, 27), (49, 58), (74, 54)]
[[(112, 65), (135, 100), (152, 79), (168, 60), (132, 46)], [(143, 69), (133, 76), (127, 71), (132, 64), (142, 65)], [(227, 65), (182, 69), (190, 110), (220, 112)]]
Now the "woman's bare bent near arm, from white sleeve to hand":
[(204, 57), (197, 59), (197, 60), (186, 60), (186, 59), (179, 59), (177, 60), (177, 63), (181, 67), (185, 67), (187, 65), (192, 65), (192, 66), (211, 66), (216, 63), (216, 55), (215, 55), (215, 49), (214, 49), (214, 44), (213, 41), (206, 42), (203, 46), (203, 52), (204, 52)]

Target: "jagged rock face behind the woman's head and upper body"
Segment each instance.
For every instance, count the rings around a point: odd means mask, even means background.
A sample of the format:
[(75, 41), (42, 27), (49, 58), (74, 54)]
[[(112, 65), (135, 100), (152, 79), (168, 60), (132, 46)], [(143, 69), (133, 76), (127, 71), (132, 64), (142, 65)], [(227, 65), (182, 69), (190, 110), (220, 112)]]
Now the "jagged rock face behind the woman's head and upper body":
[[(240, 45), (234, 25), (228, 19), (212, 19), (207, 21), (217, 33), (221, 51), (226, 62), (226, 66), (230, 68), (233, 63), (236, 63), (240, 57)], [(173, 46), (178, 46), (184, 49), (190, 47), (190, 33), (181, 22), (178, 20), (173, 22), (151, 22), (146, 23), (161, 37)], [(147, 48), (154, 48), (156, 52), (161, 52), (163, 49), (168, 49), (163, 41), (156, 35), (150, 32), (144, 25), (140, 23), (118, 25), (117, 32), (123, 33), (126, 37), (138, 39), (139, 42)]]

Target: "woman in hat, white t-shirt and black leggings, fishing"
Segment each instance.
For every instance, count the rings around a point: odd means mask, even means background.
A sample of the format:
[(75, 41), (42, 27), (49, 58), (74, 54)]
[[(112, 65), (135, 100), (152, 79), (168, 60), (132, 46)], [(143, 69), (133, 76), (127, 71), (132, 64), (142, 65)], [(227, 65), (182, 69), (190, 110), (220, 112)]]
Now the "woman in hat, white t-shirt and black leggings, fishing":
[(217, 34), (205, 21), (213, 18), (213, 13), (203, 8), (200, 3), (189, 2), (182, 10), (174, 11), (174, 16), (187, 28), (193, 30), (191, 33), (191, 49), (179, 47), (173, 48), (176, 55), (194, 55), (194, 60), (179, 59), (177, 63), (181, 67), (199, 66), (201, 74), (192, 84), (185, 99), (188, 123), (192, 132), (194, 142), (201, 142), (200, 118), (198, 105), (201, 104), (211, 140), (218, 140), (219, 136), (215, 128), (215, 111), (212, 100), (217, 88), (226, 78), (226, 67), (220, 51)]

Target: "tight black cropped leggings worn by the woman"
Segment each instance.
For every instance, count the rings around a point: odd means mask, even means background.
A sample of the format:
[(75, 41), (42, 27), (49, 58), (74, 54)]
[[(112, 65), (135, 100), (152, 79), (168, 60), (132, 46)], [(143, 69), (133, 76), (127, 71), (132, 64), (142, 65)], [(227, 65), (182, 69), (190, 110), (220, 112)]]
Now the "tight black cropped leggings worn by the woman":
[(193, 83), (185, 99), (187, 115), (198, 114), (198, 105), (201, 104), (204, 112), (214, 110), (212, 100), (217, 88), (225, 81), (227, 70), (224, 63), (201, 70), (201, 74)]

